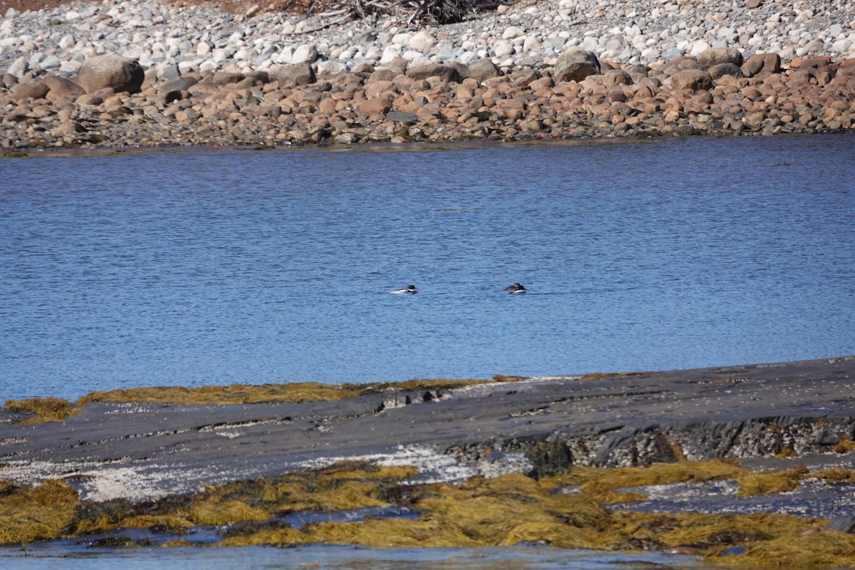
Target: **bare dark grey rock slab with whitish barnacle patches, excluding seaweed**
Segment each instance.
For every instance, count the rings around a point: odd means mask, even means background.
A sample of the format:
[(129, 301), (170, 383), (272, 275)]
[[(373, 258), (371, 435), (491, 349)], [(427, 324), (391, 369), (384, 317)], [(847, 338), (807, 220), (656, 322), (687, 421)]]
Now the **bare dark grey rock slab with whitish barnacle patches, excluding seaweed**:
[(336, 402), (91, 403), (62, 423), (0, 426), (0, 479), (59, 478), (85, 499), (140, 501), (346, 459), (417, 467), (413, 483), (680, 456), (851, 468), (835, 449), (855, 438), (853, 387), (855, 357), (841, 357)]

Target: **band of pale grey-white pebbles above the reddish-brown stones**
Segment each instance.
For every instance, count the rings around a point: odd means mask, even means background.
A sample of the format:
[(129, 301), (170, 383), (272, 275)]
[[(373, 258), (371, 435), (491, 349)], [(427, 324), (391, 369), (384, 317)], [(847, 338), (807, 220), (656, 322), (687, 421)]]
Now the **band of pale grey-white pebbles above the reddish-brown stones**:
[[(132, 49), (140, 62), (152, 67), (184, 64), (189, 71), (201, 71), (205, 62), (212, 70), (232, 65), (265, 69), (288, 62), (289, 51), (299, 54), (295, 62), (334, 59), (352, 70), (363, 62), (387, 61), (390, 45), (397, 49), (395, 56), (430, 62), (448, 62), (451, 54), (459, 61), (473, 61), (487, 46), (491, 49), (486, 53), (497, 64), (538, 67), (554, 65), (565, 46), (544, 40), (559, 33), (622, 66), (697, 56), (709, 47), (736, 48), (746, 58), (786, 47), (799, 56), (812, 52), (835, 59), (855, 57), (855, 3), (848, 0), (829, 0), (816, 12), (806, 1), (772, 0), (749, 8), (731, 0), (639, 0), (631, 6), (616, 0), (579, 0), (519, 3), (439, 27), (410, 27), (405, 18), (392, 17), (374, 25), (355, 20), (321, 27), (326, 23), (316, 16), (231, 15), (213, 5), (176, 7), (154, 0), (123, 1), (121, 9), (110, 0), (25, 14), (9, 9), (0, 21), (0, 70), (22, 52), (37, 51), (43, 58), (50, 52), (50, 67), (44, 67), (44, 59), (33, 62), (31, 71), (38, 72), (60, 67), (56, 59), (62, 65), (79, 54), (124, 54)], [(478, 42), (471, 41), (474, 36)], [(164, 42), (170, 43), (169, 49), (163, 49)], [(248, 47), (264, 56), (247, 56), (241, 49)], [(206, 57), (211, 53), (218, 56)]]

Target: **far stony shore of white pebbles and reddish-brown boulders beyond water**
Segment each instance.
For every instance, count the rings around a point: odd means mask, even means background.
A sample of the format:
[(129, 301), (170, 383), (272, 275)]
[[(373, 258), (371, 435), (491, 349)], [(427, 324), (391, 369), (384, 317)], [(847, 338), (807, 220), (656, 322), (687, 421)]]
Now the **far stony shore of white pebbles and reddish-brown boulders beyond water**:
[(133, 0), (9, 8), (0, 32), (7, 152), (855, 128), (844, 0), (541, 0), (433, 27)]

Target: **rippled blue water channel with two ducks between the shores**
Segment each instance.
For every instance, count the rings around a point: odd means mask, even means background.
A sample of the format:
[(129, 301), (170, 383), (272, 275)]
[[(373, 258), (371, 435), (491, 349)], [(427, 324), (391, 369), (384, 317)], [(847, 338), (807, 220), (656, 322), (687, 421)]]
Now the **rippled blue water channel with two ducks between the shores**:
[(855, 354), (853, 136), (39, 157), (0, 180), (0, 402)]

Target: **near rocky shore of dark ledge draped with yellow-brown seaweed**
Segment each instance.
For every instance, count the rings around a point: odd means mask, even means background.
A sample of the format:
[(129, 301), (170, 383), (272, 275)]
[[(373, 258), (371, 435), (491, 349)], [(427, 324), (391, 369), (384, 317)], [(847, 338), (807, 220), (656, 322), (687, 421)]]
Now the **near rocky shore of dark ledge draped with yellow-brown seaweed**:
[[(855, 563), (853, 356), (450, 382), (296, 403), (97, 393), (28, 425), (7, 409), (0, 544), (522, 543)], [(218, 392), (257, 397), (195, 397)]]

